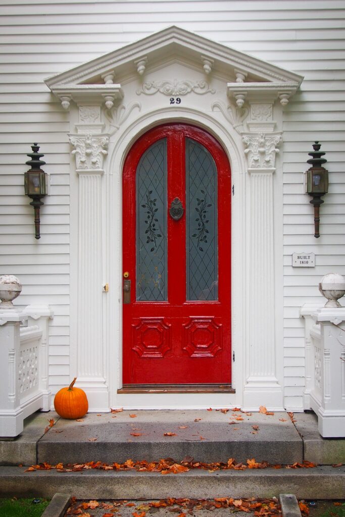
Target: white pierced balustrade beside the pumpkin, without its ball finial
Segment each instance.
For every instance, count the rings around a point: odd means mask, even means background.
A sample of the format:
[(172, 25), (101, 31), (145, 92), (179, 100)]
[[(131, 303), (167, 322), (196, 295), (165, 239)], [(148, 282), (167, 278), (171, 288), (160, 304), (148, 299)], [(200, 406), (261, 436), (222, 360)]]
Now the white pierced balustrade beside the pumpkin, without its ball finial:
[[(18, 436), (24, 418), (49, 411), (48, 306), (0, 308), (0, 437)], [(21, 326), (27, 324), (27, 326)]]

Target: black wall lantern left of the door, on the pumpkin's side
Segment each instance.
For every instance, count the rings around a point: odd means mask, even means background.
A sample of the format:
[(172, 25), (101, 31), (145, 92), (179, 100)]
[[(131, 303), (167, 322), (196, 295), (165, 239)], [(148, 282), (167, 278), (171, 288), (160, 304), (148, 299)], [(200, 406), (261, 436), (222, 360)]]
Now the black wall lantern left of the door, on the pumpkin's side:
[(38, 153), (39, 146), (34, 143), (31, 146), (33, 152), (27, 154), (31, 160), (28, 160), (26, 165), (31, 165), (31, 169), (24, 173), (24, 186), (25, 186), (25, 195), (31, 197), (33, 200), (30, 204), (35, 209), (35, 238), (39, 239), (40, 231), (40, 219), (39, 219), (39, 209), (43, 205), (43, 201), (41, 201), (42, 197), (47, 194), (47, 173), (42, 171), (41, 165), (45, 165), (46, 162), (40, 160), (42, 156), (41, 153)]

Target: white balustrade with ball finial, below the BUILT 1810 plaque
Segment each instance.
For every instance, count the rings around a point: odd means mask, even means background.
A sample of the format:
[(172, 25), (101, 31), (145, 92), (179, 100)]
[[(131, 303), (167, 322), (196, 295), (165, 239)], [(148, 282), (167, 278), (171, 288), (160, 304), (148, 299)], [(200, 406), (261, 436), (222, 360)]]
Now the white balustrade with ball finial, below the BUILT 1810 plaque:
[[(345, 307), (337, 301), (345, 292), (344, 279), (329, 273), (320, 292), (325, 307), (304, 306), (306, 321), (305, 409), (313, 409), (325, 438), (345, 437)], [(341, 294), (342, 293), (342, 294)]]

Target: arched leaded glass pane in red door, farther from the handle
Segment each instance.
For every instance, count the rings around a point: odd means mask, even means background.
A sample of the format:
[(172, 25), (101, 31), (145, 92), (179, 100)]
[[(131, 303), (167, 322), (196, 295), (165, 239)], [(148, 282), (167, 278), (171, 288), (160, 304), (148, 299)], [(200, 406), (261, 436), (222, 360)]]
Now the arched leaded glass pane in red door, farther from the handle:
[(187, 300), (218, 299), (217, 169), (201, 144), (186, 140)]

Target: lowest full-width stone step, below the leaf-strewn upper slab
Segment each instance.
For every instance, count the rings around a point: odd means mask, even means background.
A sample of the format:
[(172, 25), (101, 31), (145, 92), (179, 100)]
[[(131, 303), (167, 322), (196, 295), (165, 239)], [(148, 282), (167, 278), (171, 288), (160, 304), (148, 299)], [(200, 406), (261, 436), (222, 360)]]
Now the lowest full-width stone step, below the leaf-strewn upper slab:
[(344, 499), (345, 467), (265, 468), (261, 470), (189, 470), (183, 474), (83, 470), (24, 472), (24, 467), (0, 467), (0, 496), (52, 497), (70, 493), (77, 499), (160, 499), (186, 497), (278, 497)]

